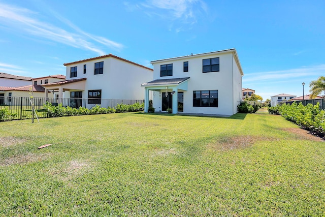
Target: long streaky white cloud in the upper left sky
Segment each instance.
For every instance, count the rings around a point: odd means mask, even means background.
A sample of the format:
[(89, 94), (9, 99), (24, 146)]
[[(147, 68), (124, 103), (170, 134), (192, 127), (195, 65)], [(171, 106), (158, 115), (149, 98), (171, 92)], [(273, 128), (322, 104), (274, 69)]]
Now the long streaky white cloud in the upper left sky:
[(0, 22), (2, 25), (17, 28), (19, 31), (72, 47), (91, 50), (99, 55), (104, 55), (105, 52), (100, 46), (95, 45), (93, 42), (100, 43), (115, 50), (120, 50), (123, 48), (123, 45), (120, 43), (113, 42), (101, 36), (93, 36), (83, 32), (69, 20), (64, 19), (57, 14), (56, 18), (63, 21), (65, 24), (68, 24), (77, 33), (68, 32), (67, 30), (54, 26), (50, 23), (39, 21), (37, 18), (34, 18), (35, 16), (37, 16), (37, 14), (28, 9), (0, 3)]

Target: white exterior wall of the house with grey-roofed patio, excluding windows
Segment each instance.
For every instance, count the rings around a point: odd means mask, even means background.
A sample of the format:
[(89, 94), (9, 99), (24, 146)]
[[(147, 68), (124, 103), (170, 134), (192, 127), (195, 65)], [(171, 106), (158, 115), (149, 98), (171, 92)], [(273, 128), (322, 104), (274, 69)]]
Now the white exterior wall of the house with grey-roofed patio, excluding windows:
[[(203, 73), (203, 59), (214, 57), (219, 57), (219, 72)], [(183, 72), (184, 61), (188, 61), (188, 72)], [(160, 77), (160, 65), (165, 64), (173, 64), (173, 76)], [(241, 74), (232, 52), (160, 60), (154, 63), (153, 77), (154, 80), (190, 77), (187, 91), (183, 91), (184, 113), (233, 115), (237, 113), (237, 102), (242, 99)], [(218, 107), (193, 107), (194, 90), (218, 90)], [(163, 91), (166, 89), (160, 92)], [(156, 95), (153, 100), (156, 101), (157, 98)], [(161, 94), (157, 100), (153, 103), (155, 111), (161, 110)], [(160, 108), (155, 107), (158, 105)]]

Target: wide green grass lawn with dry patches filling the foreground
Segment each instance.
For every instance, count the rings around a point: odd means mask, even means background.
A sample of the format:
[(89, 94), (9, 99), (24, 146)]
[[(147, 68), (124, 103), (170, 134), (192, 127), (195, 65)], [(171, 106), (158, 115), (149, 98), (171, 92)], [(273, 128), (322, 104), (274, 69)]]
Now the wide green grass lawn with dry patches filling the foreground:
[(281, 116), (40, 121), (0, 122), (0, 215), (325, 215), (325, 142)]

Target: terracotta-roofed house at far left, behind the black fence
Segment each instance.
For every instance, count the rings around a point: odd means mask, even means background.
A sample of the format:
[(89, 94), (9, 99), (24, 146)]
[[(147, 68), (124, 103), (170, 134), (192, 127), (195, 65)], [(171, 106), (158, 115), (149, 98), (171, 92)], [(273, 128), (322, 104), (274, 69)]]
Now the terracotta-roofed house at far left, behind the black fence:
[[(38, 83), (46, 83), (46, 82), (56, 82), (65, 80), (66, 76), (64, 75), (49, 75), (46, 77), (40, 78), (30, 78), (28, 81), (29, 85), (25, 86), (18, 86), (18, 87), (7, 87), (7, 86), (0, 86), (0, 105), (7, 104), (7, 105), (15, 105), (20, 103), (14, 102), (14, 98), (11, 97), (44, 97), (45, 89)], [(33, 83), (31, 85), (31, 83)], [(53, 93), (52, 93), (53, 94)], [(50, 93), (49, 97), (53, 97)]]

